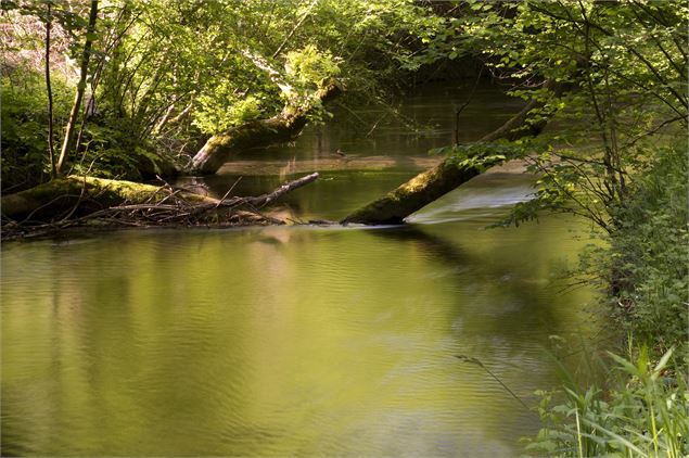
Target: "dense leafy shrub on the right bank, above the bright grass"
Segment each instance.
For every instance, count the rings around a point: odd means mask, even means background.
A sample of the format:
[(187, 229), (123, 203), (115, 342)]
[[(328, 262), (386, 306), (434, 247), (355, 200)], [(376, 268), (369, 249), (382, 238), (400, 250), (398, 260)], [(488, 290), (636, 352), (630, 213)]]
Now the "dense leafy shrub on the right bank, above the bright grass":
[(662, 148), (613, 212), (615, 309), (637, 340), (661, 349), (687, 338), (689, 236), (686, 147)]

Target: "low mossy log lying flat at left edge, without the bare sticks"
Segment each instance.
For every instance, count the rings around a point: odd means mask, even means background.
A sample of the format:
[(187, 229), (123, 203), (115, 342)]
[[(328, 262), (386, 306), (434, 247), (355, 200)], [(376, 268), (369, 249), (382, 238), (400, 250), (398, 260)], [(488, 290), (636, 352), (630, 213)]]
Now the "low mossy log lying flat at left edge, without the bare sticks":
[[(3, 195), (0, 213), (3, 218), (49, 221), (68, 215), (95, 212), (124, 202), (142, 203), (155, 200), (160, 187), (133, 181), (95, 177), (68, 176), (47, 183)], [(164, 194), (161, 194), (163, 199)], [(208, 198), (184, 193), (184, 199), (203, 202)]]

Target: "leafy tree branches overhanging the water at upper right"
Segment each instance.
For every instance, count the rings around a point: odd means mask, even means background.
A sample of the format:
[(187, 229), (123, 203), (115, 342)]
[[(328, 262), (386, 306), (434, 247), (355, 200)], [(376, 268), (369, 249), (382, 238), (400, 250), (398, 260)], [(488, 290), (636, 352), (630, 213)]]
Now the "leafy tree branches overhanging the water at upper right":
[(540, 102), (527, 123), (557, 124), (540, 140), (551, 147), (529, 157), (541, 177), (536, 200), (519, 205), (512, 222), (548, 208), (610, 231), (629, 175), (654, 154), (651, 139), (673, 124), (686, 127), (688, 17), (678, 0), (469, 0), (423, 39), (417, 59), (482, 59), (514, 84), (514, 96)]

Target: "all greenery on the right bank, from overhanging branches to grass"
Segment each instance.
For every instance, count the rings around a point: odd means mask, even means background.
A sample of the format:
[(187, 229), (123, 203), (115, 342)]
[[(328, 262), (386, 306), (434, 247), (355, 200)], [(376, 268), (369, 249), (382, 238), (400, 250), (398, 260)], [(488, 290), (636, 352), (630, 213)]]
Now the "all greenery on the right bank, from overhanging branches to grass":
[[(513, 12), (507, 20), (495, 11), (506, 9)], [(532, 123), (554, 116), (557, 127), (525, 143), (529, 154), (545, 151), (527, 158), (541, 178), (536, 199), (518, 205), (509, 221), (545, 208), (582, 215), (603, 230), (608, 247), (584, 264), (585, 272), (603, 281), (603, 302), (628, 346), (626, 359), (601, 359), (600, 384), (576, 386), (565, 378), (563, 404), (550, 407), (546, 396), (546, 427), (529, 449), (686, 456), (686, 4), (521, 2), (481, 10), (488, 12), (470, 27), (488, 44), (484, 52), (497, 72), (533, 77), (537, 69), (543, 80), (572, 88), (532, 115)], [(673, 124), (682, 129), (667, 129)]]

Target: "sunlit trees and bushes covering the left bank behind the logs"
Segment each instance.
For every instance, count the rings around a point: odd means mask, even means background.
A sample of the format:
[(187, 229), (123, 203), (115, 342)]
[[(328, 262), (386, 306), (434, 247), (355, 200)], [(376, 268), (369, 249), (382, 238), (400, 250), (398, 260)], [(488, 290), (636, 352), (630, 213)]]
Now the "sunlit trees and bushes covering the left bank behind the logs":
[(43, 181), (54, 150), (58, 174), (184, 168), (209, 135), (299, 106), (334, 76), (350, 100), (380, 99), (432, 26), (426, 12), (406, 0), (3, 1), (5, 189)]

